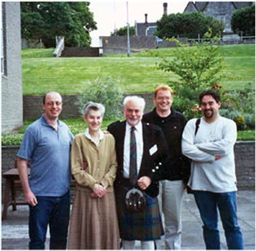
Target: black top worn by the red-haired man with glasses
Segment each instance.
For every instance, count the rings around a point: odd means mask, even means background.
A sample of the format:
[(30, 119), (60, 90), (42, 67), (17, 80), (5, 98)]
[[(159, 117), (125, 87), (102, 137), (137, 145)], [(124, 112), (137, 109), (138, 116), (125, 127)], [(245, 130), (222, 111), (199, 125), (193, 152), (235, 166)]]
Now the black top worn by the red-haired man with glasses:
[(162, 128), (168, 144), (170, 158), (175, 159), (175, 164), (169, 166), (169, 172), (167, 172), (167, 178), (165, 179), (184, 179), (187, 181), (189, 173), (184, 173), (184, 169), (181, 168), (183, 165), (190, 166), (189, 159), (181, 153), (181, 137), (185, 124), (187, 123), (185, 116), (171, 107), (171, 114), (167, 117), (161, 117), (157, 115), (156, 108), (154, 108), (153, 111), (143, 116), (142, 121), (155, 124)]

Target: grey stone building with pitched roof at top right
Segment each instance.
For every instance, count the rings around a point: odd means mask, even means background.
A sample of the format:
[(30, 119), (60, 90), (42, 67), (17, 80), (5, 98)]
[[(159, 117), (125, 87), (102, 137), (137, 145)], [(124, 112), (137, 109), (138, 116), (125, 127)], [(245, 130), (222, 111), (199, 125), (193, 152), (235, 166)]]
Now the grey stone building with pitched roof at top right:
[(189, 2), (184, 12), (202, 12), (224, 23), (224, 35), (233, 34), (231, 16), (235, 10), (252, 5), (253, 2)]

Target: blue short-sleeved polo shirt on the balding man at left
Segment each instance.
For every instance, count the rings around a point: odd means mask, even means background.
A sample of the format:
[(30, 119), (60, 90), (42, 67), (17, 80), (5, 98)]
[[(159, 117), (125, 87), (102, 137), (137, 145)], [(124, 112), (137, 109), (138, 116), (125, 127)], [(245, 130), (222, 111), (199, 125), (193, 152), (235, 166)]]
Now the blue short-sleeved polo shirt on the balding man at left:
[(61, 196), (69, 190), (73, 138), (64, 122), (58, 121), (56, 131), (44, 115), (27, 128), (17, 156), (31, 160), (29, 184), (36, 196)]

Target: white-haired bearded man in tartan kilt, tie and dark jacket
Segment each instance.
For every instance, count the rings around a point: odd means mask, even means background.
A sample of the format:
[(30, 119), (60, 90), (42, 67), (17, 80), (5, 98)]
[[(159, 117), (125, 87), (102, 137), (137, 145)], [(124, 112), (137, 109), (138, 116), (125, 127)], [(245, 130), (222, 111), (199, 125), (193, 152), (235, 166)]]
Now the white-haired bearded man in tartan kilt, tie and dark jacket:
[[(154, 250), (154, 240), (164, 234), (157, 204), (161, 166), (168, 150), (160, 127), (142, 123), (145, 101), (138, 96), (127, 96), (124, 101), (126, 121), (108, 126), (116, 139), (117, 177), (114, 182), (117, 216), (123, 249), (134, 249), (135, 240), (141, 249)], [(142, 191), (145, 207), (139, 212), (127, 208), (126, 193), (133, 187)]]

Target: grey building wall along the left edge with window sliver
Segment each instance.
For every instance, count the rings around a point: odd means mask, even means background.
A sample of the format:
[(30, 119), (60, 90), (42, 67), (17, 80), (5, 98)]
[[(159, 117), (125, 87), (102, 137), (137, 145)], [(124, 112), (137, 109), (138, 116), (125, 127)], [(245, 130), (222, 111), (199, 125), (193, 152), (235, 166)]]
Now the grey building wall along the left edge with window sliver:
[(1, 2), (2, 132), (22, 126), (21, 12), (19, 2)]

